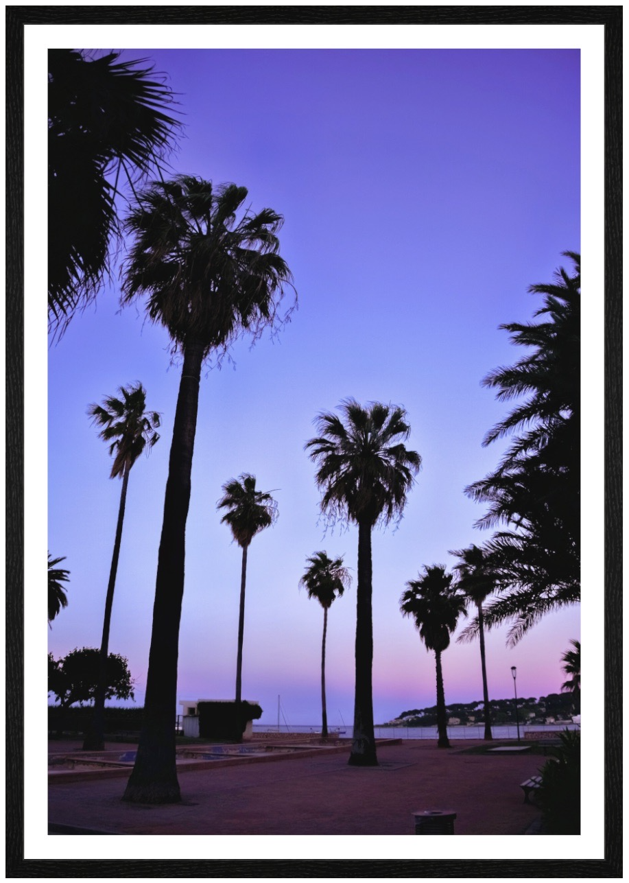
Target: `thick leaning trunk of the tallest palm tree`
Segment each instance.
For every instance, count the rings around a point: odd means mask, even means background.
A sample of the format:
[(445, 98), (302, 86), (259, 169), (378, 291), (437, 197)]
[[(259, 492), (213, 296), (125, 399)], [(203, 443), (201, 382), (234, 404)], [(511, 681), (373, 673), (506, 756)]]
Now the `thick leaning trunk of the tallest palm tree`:
[(176, 684), (183, 600), (185, 523), (191, 494), (198, 385), (204, 348), (186, 343), (168, 462), (168, 481), (157, 563), (153, 632), (146, 675), (144, 726), (124, 800), (174, 804), (181, 800), (176, 774)]

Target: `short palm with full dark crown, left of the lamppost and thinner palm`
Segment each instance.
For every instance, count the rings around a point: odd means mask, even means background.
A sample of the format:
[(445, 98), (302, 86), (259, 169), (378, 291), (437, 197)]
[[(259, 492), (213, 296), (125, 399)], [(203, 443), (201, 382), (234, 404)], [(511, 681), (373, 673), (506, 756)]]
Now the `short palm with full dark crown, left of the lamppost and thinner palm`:
[(400, 599), (403, 615), (412, 616), (426, 650), (435, 653), (437, 664), (437, 728), (438, 747), (449, 748), (446, 697), (441, 670), (441, 653), (450, 645), (459, 616), (465, 613), (465, 598), (452, 585), (453, 574), (443, 564), (423, 568), (419, 579), (411, 579)]

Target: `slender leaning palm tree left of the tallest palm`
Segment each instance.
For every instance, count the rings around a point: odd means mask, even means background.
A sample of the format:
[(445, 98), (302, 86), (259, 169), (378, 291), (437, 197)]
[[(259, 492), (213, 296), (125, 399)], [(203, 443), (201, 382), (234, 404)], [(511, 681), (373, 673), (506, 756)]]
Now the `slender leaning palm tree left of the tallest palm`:
[(122, 479), (123, 484), (120, 490), (114, 554), (111, 557), (109, 583), (105, 597), (105, 615), (102, 621), (101, 681), (94, 696), (92, 729), (86, 733), (83, 743), (83, 748), (86, 751), (102, 751), (105, 747), (103, 714), (105, 708), (107, 660), (109, 657), (109, 629), (111, 626), (111, 608), (114, 603), (114, 589), (116, 588), (120, 544), (123, 539), (124, 507), (127, 500), (129, 473), (140, 454), (144, 450), (148, 454), (160, 438), (159, 434), (155, 431), (160, 426), (160, 415), (157, 411), (146, 411), (146, 389), (144, 389), (142, 384), (138, 381), (131, 383), (129, 387), (119, 387), (117, 391), (120, 398), (106, 396), (103, 404), (91, 404), (87, 409), (87, 413), (92, 418), (94, 426), (101, 427), (99, 438), (103, 442), (111, 442), (109, 444), (109, 456), (114, 457), (114, 462), (111, 466), (109, 478)]

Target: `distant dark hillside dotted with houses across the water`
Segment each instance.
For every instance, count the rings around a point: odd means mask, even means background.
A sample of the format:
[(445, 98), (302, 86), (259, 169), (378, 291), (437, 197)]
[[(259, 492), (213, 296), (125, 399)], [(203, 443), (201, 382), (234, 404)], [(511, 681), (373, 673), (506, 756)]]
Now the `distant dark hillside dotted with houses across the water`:
[[(515, 699), (491, 699), (491, 722), (495, 724), (515, 723)], [(483, 702), (451, 703), (446, 706), (448, 722), (451, 726), (478, 724), (483, 722)], [(570, 721), (579, 709), (573, 707), (571, 693), (549, 693), (536, 699), (518, 698), (520, 724), (543, 724)], [(381, 727), (436, 727), (437, 706), (411, 708), (402, 712), (393, 721), (379, 724)]]

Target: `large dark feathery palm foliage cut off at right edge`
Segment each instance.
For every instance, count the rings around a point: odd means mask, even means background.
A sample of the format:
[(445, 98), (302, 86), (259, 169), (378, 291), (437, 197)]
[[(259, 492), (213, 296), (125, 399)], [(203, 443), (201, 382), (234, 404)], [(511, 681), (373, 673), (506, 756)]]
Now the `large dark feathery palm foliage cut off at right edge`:
[(505, 529), (485, 545), (500, 597), (485, 624), (513, 620), (509, 643), (550, 610), (580, 600), (580, 255), (573, 275), (560, 268), (535, 313), (542, 321), (500, 326), (528, 354), (483, 381), (500, 401), (526, 396), (483, 445), (519, 432), (498, 469), (466, 488), (490, 509), (481, 527)]

